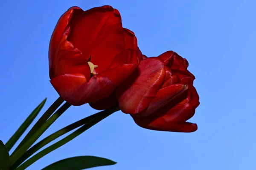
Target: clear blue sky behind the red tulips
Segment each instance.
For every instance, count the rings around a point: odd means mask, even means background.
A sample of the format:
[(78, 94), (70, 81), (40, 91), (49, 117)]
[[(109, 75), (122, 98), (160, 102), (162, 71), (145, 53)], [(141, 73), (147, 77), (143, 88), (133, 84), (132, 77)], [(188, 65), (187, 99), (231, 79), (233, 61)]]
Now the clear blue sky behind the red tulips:
[[(255, 170), (255, 0), (1, 1), (0, 139), (6, 143), (45, 97), (43, 111), (58, 98), (48, 47), (61, 14), (102, 5), (119, 10), (145, 55), (173, 50), (189, 61), (201, 102), (191, 119), (198, 131), (146, 130), (116, 112), (28, 170), (82, 155), (118, 162), (95, 170)], [(43, 137), (95, 112), (70, 107)]]

